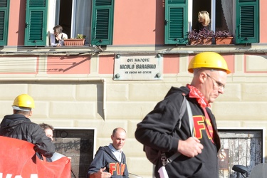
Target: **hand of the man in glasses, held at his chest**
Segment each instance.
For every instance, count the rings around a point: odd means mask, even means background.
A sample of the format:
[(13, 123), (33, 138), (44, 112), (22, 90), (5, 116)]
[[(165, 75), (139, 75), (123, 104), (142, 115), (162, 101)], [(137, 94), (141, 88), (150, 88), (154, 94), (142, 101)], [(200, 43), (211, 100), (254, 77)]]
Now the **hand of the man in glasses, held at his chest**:
[(187, 157), (195, 157), (201, 153), (203, 145), (196, 137), (189, 137), (187, 140), (179, 140), (178, 152)]

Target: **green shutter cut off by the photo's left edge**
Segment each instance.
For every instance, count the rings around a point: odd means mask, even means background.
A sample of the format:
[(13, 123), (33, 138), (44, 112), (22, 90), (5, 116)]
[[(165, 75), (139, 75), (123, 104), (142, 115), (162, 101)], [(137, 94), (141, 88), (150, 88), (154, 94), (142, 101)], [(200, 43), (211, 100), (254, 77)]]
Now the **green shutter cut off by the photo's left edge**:
[(7, 45), (9, 0), (0, 0), (0, 46)]

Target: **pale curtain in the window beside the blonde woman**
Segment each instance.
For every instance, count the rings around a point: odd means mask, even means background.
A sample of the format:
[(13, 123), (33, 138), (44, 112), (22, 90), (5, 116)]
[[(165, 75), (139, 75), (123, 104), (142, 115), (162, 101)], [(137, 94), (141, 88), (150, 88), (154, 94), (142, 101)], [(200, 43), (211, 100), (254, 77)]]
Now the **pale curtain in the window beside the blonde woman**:
[(227, 27), (233, 33), (233, 0), (221, 0), (221, 7), (224, 11)]

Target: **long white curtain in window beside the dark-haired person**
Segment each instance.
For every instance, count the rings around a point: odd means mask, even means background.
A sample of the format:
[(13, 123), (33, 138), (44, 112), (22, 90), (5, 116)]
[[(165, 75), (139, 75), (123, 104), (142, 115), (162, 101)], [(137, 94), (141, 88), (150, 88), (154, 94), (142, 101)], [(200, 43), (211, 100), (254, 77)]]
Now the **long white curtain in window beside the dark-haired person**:
[(86, 43), (90, 42), (91, 6), (92, 1), (90, 0), (76, 0), (75, 11), (73, 11), (75, 16), (75, 26), (73, 26), (75, 36), (77, 34), (85, 35)]

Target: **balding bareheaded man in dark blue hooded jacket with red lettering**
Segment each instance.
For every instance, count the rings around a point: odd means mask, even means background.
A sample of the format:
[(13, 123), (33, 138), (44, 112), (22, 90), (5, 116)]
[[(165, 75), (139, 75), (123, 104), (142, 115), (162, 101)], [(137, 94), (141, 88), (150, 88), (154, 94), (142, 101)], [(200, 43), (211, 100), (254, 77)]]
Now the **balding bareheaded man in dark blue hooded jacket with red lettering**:
[(126, 157), (122, 152), (126, 140), (126, 131), (120, 127), (115, 128), (111, 140), (110, 145), (99, 147), (88, 169), (88, 178), (129, 177)]

